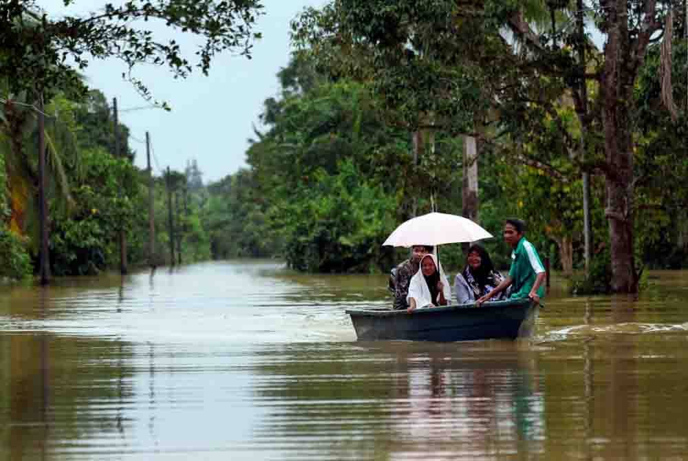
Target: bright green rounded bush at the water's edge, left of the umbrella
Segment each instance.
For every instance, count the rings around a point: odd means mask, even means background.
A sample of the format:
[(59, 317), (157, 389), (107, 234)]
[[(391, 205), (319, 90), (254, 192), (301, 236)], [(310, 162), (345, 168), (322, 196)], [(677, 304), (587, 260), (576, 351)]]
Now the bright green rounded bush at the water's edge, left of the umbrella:
[(310, 272), (377, 270), (380, 242), (394, 228), (394, 199), (361, 177), (350, 160), (334, 175), (316, 171), (312, 184), (272, 208), (288, 264)]

